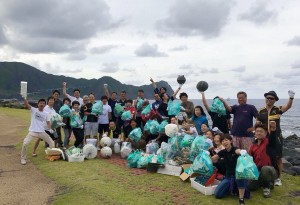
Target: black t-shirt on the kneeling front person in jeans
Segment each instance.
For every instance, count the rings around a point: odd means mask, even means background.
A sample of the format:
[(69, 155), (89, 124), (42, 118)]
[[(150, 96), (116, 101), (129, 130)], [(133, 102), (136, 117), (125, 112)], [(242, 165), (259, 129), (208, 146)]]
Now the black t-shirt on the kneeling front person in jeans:
[(217, 154), (220, 158), (224, 159), (226, 177), (235, 176), (236, 162), (237, 162), (237, 158), (240, 156), (235, 153), (236, 149), (238, 148), (231, 147), (229, 152), (226, 149), (223, 149)]

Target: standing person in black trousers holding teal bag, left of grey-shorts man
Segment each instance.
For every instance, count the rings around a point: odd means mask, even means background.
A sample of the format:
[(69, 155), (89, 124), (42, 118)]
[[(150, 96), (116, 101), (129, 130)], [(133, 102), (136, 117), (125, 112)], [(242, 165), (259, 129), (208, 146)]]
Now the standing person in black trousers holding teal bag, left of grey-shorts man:
[(72, 102), (72, 108), (73, 108), (72, 117), (73, 116), (76, 117), (77, 126), (71, 125), (71, 127), (72, 127), (72, 132), (76, 139), (74, 146), (82, 148), (83, 147), (83, 139), (84, 139), (84, 129), (83, 129), (82, 119), (80, 117), (79, 106), (80, 106), (80, 103), (78, 101), (75, 100)]

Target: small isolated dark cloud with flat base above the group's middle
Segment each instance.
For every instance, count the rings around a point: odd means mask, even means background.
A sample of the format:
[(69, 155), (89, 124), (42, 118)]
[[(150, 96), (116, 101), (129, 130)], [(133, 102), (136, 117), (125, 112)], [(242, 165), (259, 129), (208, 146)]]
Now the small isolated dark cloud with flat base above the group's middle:
[(156, 44), (149, 45), (144, 43), (135, 50), (135, 55), (139, 57), (167, 57), (166, 53), (158, 51), (158, 46)]

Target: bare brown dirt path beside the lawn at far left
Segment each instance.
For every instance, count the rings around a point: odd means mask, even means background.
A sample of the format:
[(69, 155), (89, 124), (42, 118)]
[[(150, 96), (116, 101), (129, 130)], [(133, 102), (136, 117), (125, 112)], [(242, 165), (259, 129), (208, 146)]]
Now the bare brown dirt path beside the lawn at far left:
[(43, 176), (29, 160), (25, 166), (20, 164), (20, 152), (15, 149), (15, 144), (25, 136), (17, 133), (27, 126), (17, 118), (0, 113), (1, 204), (49, 204), (51, 196), (58, 190), (56, 184)]

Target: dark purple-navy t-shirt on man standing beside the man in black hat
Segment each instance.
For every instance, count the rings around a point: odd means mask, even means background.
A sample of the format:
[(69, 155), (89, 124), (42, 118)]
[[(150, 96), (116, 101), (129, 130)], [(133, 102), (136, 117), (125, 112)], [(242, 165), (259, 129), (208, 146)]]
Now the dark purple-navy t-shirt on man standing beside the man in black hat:
[(254, 105), (233, 105), (231, 109), (233, 114), (231, 134), (236, 137), (253, 137), (253, 133), (247, 132), (247, 129), (253, 127), (253, 118), (258, 115)]

